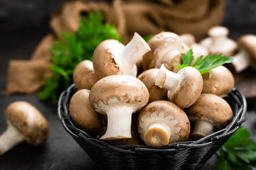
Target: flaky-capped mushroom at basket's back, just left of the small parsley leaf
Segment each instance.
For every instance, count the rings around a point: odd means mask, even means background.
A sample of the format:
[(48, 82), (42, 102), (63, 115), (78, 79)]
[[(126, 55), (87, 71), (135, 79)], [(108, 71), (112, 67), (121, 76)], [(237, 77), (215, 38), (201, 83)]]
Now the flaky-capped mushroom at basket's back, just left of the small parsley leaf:
[(188, 51), (187, 45), (176, 33), (161, 32), (149, 40), (151, 51), (146, 52), (142, 59), (143, 69), (160, 68), (161, 64), (171, 70), (178, 72), (176, 64), (181, 63), (181, 57)]

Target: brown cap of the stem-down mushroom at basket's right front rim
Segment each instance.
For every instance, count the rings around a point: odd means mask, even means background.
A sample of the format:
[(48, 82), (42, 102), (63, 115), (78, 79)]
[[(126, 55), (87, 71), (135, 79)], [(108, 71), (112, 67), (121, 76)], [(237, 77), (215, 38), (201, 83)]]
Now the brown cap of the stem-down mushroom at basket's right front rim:
[(220, 96), (215, 94), (201, 94), (196, 103), (186, 108), (189, 120), (206, 120), (215, 128), (222, 128), (230, 123), (233, 112), (230, 105)]

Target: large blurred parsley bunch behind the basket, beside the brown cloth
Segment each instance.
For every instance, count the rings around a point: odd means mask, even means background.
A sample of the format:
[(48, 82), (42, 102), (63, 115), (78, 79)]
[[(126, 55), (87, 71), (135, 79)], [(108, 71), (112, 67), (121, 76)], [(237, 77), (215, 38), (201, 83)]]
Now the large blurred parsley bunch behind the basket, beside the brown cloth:
[(116, 28), (109, 23), (102, 22), (102, 13), (89, 13), (87, 17), (82, 16), (80, 28), (76, 33), (63, 33), (63, 39), (56, 40), (50, 48), (53, 53), (50, 69), (53, 76), (46, 79), (43, 89), (38, 91), (41, 100), (50, 99), (58, 101), (62, 91), (73, 83), (73, 71), (82, 60), (92, 60), (92, 54), (103, 40), (119, 40)]

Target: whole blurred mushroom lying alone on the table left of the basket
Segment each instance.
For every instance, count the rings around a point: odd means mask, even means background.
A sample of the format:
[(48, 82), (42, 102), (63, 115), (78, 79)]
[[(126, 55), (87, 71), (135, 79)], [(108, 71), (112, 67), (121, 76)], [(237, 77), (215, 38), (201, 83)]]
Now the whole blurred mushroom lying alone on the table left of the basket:
[(43, 145), (49, 135), (46, 118), (26, 101), (15, 101), (5, 110), (7, 129), (0, 136), (0, 155), (26, 141), (34, 146)]

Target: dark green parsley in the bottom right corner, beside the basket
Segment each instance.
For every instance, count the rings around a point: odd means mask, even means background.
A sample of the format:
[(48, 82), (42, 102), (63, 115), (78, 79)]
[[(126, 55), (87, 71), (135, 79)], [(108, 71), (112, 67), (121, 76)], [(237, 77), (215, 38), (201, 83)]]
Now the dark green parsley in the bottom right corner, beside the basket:
[(215, 165), (216, 170), (252, 170), (250, 163), (256, 160), (256, 142), (250, 138), (246, 128), (240, 127), (218, 152), (220, 158)]

